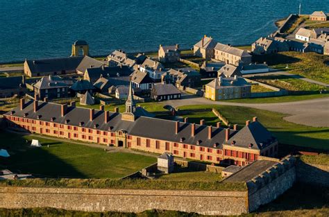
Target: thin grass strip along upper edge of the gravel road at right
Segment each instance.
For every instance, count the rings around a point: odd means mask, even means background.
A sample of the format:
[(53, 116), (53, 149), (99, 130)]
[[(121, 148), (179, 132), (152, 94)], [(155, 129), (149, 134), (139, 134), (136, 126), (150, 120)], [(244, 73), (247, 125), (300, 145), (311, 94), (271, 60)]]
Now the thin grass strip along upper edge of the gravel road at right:
[(305, 101), (315, 98), (326, 98), (329, 94), (309, 94), (309, 95), (290, 95), (290, 96), (274, 96), (265, 98), (239, 98), (227, 100), (230, 103), (286, 103), (293, 101)]

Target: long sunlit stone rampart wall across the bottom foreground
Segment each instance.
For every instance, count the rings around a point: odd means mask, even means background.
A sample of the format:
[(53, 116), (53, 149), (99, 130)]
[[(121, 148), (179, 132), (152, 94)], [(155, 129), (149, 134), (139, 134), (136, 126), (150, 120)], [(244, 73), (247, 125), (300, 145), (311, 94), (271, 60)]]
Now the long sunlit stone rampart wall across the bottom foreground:
[(0, 207), (125, 212), (166, 209), (206, 215), (239, 215), (248, 212), (248, 200), (246, 191), (0, 187)]

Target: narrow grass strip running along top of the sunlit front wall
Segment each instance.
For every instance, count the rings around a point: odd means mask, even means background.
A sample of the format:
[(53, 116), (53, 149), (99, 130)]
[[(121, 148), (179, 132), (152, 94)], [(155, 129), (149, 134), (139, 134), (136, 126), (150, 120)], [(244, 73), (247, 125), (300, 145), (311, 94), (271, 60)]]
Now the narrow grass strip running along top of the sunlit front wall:
[[(133, 162), (133, 161), (131, 161)], [(243, 182), (174, 182), (169, 180), (112, 180), (112, 179), (26, 179), (0, 180), (0, 186), (88, 188), (88, 189), (153, 189), (246, 191)]]

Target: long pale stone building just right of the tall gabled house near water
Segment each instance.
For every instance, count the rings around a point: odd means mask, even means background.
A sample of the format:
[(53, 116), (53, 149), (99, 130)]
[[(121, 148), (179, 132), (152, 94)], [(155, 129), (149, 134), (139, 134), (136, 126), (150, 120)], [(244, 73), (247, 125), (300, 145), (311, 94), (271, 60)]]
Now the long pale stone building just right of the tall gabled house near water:
[(247, 51), (221, 43), (217, 43), (214, 47), (214, 59), (235, 66), (251, 63), (251, 55)]

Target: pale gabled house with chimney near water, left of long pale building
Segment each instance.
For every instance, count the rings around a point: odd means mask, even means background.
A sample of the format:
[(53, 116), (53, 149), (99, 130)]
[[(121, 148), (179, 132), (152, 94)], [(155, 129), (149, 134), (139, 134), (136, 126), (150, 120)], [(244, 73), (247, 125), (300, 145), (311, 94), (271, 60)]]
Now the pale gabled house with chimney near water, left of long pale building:
[(196, 56), (210, 60), (214, 57), (214, 46), (216, 46), (216, 42), (212, 37), (205, 35), (198, 43), (194, 44), (193, 53)]

